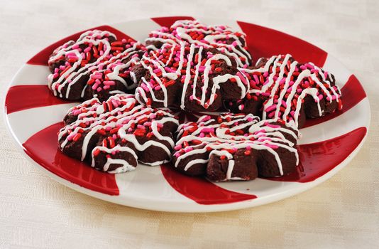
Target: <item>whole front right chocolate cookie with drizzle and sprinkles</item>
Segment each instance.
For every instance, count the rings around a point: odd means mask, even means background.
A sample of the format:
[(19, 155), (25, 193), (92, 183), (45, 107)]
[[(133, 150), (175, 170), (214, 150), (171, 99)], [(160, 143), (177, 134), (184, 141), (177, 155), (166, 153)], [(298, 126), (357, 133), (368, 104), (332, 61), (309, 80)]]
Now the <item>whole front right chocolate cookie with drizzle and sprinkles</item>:
[(189, 176), (212, 181), (253, 180), (295, 171), (297, 130), (282, 120), (224, 113), (178, 127), (172, 165)]

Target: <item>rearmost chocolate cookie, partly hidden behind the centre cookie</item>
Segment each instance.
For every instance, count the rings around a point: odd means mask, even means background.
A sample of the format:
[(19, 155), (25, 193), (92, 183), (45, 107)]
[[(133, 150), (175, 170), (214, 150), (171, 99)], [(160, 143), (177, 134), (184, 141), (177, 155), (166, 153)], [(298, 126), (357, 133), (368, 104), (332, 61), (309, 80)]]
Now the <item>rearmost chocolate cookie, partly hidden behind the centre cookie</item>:
[(207, 26), (199, 21), (180, 20), (170, 27), (152, 31), (145, 40), (148, 49), (156, 50), (164, 44), (185, 42), (204, 48), (216, 48), (231, 58), (239, 66), (251, 65), (251, 55), (246, 47), (246, 34), (233, 31), (229, 26)]

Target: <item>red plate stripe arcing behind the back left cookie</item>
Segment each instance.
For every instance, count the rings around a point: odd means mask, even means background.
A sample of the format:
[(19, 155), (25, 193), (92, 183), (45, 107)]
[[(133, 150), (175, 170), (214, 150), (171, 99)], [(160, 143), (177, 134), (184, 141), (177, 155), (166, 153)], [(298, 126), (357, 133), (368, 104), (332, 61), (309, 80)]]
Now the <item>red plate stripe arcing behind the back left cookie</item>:
[[(122, 33), (121, 31), (117, 30), (116, 28), (112, 28), (111, 26), (99, 26), (99, 27), (94, 27), (94, 28), (89, 28), (85, 31), (93, 30), (93, 29), (99, 29), (101, 31), (109, 31), (111, 33), (114, 33), (118, 39), (123, 39), (123, 38), (131, 38), (127, 36), (125, 33)], [(28, 64), (32, 65), (48, 65), (48, 58), (49, 56), (53, 53), (54, 49), (63, 45), (64, 43), (67, 43), (67, 41), (74, 40), (76, 41), (79, 36), (84, 33), (85, 31), (80, 31), (78, 33), (73, 34), (72, 36), (67, 36), (66, 38), (63, 38), (60, 41), (57, 41), (56, 43), (51, 44), (47, 48), (43, 49), (43, 51), (40, 51), (36, 55), (33, 56), (28, 61)], [(133, 38), (131, 38), (133, 39)], [(134, 40), (134, 39), (133, 39)], [(47, 76), (47, 75), (46, 75)]]

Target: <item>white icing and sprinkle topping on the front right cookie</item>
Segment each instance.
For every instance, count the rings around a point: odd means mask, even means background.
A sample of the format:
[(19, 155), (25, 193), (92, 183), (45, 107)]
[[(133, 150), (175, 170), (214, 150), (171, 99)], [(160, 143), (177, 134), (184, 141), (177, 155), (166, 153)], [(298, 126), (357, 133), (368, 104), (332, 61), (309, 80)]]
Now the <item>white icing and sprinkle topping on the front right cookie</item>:
[[(199, 117), (196, 123), (180, 124), (177, 129), (177, 142), (175, 144), (175, 167), (187, 157), (207, 153), (207, 148), (211, 150), (207, 159), (189, 161), (184, 170), (187, 171), (195, 164), (207, 164), (212, 154), (219, 157), (224, 156), (228, 160), (228, 170), (224, 180), (229, 181), (233, 179), (234, 169), (234, 156), (231, 150), (236, 152), (237, 149), (256, 149), (270, 152), (275, 157), (280, 175), (283, 175), (283, 169), (282, 161), (278, 153), (275, 152), (278, 147), (294, 153), (297, 159), (296, 164), (299, 164), (295, 144), (284, 136), (284, 134), (288, 134), (297, 140), (296, 129), (277, 125), (278, 120), (259, 121), (258, 117), (251, 114), (233, 115), (226, 113), (219, 116), (220, 118), (221, 122), (218, 122), (211, 116), (205, 115)], [(248, 133), (236, 133), (243, 129), (246, 130), (246, 128), (248, 128)]]

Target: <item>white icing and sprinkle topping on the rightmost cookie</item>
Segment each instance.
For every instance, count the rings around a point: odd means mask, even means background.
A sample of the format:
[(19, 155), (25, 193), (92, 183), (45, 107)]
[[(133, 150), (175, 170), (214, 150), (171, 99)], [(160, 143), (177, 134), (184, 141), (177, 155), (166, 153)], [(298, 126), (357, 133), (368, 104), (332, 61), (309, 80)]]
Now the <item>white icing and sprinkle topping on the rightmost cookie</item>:
[[(331, 85), (330, 73), (327, 73), (326, 77), (324, 71), (313, 63), (305, 63), (299, 67), (299, 63), (296, 60), (291, 63), (291, 58), (290, 54), (274, 55), (262, 67), (253, 70), (246, 68), (245, 71), (251, 75), (255, 73), (268, 75), (268, 78), (263, 77), (264, 83), (256, 82), (256, 79), (253, 78), (256, 85), (263, 84), (260, 90), (253, 88), (248, 90), (249, 94), (260, 95), (268, 93), (268, 100), (263, 105), (263, 120), (280, 118), (290, 126), (298, 127), (304, 97), (307, 95), (313, 97), (321, 117), (324, 114), (320, 106), (320, 100), (325, 97), (326, 101), (332, 102), (336, 100), (341, 105), (341, 91), (338, 86)], [(256, 65), (260, 61), (261, 59), (257, 61)], [(292, 78), (296, 79), (295, 82)], [(310, 85), (309, 79), (313, 81), (313, 86)], [(307, 83), (307, 87), (302, 86), (304, 83)], [(294, 105), (293, 100), (296, 101), (296, 105)], [(292, 107), (295, 107), (295, 110)]]

